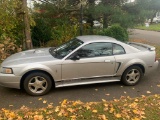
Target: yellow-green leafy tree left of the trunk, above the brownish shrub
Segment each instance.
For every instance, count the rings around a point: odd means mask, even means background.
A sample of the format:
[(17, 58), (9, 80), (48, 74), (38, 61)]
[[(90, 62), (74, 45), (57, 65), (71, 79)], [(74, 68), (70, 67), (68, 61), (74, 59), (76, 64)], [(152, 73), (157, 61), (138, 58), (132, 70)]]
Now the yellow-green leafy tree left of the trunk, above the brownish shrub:
[(0, 0), (0, 42), (9, 38), (21, 44), (23, 19), (19, 15), (20, 6), (18, 0)]

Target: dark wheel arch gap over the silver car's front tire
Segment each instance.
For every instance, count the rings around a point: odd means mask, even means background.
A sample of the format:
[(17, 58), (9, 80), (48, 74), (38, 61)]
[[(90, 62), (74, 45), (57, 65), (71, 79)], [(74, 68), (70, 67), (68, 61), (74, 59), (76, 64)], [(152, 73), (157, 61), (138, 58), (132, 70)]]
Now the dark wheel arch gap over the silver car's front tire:
[(24, 83), (25, 78), (26, 78), (29, 74), (34, 73), (34, 72), (42, 72), (42, 73), (47, 74), (47, 75), (51, 78), (51, 80), (52, 80), (52, 81), (51, 81), (51, 82), (52, 82), (52, 86), (55, 87), (55, 81), (54, 81), (54, 78), (52, 77), (52, 75), (51, 75), (50, 73), (44, 71), (44, 70), (38, 70), (38, 69), (37, 69), (37, 70), (30, 70), (30, 71), (26, 72), (26, 73), (22, 76), (22, 78), (21, 78), (21, 80), (20, 80), (20, 88), (21, 88), (21, 89), (24, 89), (24, 88), (23, 88), (23, 83)]

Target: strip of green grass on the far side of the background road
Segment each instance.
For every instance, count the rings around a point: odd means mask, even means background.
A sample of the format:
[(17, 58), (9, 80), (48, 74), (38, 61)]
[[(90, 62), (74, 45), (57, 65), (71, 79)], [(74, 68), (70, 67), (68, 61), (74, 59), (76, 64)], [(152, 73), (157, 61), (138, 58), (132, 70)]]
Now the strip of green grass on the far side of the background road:
[(151, 31), (160, 31), (160, 23), (159, 24), (151, 24), (149, 27), (146, 27), (145, 25), (137, 26), (136, 29), (141, 30), (151, 30)]

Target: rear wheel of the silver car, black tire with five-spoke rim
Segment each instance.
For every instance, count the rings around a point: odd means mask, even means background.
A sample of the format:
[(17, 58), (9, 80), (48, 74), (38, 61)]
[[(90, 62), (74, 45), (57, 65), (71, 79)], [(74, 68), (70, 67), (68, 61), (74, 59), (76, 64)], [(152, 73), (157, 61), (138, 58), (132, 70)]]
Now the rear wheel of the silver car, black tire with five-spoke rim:
[(143, 72), (140, 67), (131, 66), (124, 71), (121, 81), (125, 85), (134, 86), (141, 80), (142, 76)]

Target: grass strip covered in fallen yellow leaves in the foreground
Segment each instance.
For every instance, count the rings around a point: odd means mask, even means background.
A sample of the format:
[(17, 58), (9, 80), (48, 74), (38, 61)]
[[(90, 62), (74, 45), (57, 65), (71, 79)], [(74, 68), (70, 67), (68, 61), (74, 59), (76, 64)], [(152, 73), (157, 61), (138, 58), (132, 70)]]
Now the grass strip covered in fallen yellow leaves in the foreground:
[(159, 116), (160, 95), (134, 99), (122, 96), (98, 103), (64, 100), (55, 107), (48, 104), (41, 109), (23, 106), (19, 110), (0, 110), (0, 120), (158, 120)]

